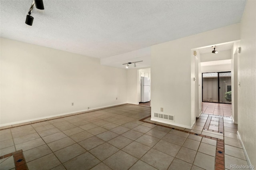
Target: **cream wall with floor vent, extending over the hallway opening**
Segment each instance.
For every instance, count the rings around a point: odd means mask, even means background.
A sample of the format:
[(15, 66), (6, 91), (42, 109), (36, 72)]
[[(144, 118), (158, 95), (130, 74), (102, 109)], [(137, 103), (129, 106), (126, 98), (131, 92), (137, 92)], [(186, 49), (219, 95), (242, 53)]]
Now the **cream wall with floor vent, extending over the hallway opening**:
[[(221, 36), (215, 36), (221, 35)], [(240, 40), (240, 24), (203, 32), (152, 46), (151, 55), (151, 119), (192, 128), (195, 111), (191, 49)], [(175, 122), (155, 119), (154, 113), (174, 115)], [(193, 112), (193, 113), (192, 113)], [(193, 118), (192, 116), (193, 115)]]

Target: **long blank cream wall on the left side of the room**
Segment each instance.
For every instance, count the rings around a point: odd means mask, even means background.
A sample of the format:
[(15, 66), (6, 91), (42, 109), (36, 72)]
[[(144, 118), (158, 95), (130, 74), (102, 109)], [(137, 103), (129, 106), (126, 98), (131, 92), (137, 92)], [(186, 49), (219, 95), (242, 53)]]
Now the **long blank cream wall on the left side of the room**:
[(0, 125), (126, 103), (126, 79), (97, 58), (1, 38)]

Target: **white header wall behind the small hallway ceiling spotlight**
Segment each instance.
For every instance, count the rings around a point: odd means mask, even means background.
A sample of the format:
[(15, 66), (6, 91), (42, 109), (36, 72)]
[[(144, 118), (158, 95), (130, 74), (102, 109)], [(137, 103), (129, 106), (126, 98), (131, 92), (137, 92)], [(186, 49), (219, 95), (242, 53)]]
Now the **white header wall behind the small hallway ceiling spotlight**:
[(217, 61), (231, 59), (231, 50), (219, 51), (217, 54), (214, 53), (203, 53), (201, 54), (201, 62)]

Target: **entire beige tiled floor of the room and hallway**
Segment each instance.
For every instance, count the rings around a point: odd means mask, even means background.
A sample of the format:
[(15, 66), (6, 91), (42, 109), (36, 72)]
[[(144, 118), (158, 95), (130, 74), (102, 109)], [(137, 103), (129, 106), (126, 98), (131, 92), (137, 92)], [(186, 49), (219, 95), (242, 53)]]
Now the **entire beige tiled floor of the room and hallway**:
[[(150, 121), (150, 110), (120, 105), (2, 128), (0, 169), (14, 169), (14, 160), (19, 166), (22, 159), (29, 170), (217, 170), (247, 165), (231, 118), (203, 114), (191, 130)], [(217, 124), (215, 132), (210, 127)], [(24, 158), (6, 155), (19, 150)]]

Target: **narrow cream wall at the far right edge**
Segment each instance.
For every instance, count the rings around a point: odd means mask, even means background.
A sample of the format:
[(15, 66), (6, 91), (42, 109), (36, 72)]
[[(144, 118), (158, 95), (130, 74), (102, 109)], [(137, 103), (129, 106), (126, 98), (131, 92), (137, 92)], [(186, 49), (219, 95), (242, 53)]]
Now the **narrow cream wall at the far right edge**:
[(248, 0), (241, 21), (238, 54), (238, 133), (256, 166), (256, 1)]

